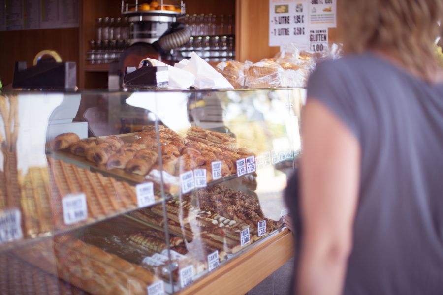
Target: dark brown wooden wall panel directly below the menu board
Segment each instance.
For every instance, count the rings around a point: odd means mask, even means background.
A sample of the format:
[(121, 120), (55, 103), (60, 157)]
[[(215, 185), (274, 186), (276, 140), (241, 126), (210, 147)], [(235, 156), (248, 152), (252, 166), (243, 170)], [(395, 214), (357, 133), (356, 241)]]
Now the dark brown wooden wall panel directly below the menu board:
[(26, 61), (30, 66), (35, 55), (44, 49), (57, 51), (63, 61), (75, 61), (78, 81), (78, 28), (2, 31), (0, 40), (3, 86), (12, 83), (15, 61)]

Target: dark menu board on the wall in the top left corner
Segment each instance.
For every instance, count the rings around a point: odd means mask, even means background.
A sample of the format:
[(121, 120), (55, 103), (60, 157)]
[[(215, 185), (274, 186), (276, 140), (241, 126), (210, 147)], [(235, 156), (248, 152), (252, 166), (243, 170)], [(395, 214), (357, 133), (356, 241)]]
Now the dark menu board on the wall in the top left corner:
[(78, 0), (0, 0), (0, 31), (78, 27)]

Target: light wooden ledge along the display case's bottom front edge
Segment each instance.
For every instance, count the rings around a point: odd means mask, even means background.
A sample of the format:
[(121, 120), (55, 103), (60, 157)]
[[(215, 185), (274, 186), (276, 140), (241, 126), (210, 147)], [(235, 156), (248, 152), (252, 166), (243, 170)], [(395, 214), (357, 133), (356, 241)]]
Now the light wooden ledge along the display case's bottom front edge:
[(287, 229), (221, 265), (178, 295), (246, 294), (293, 256), (293, 236)]

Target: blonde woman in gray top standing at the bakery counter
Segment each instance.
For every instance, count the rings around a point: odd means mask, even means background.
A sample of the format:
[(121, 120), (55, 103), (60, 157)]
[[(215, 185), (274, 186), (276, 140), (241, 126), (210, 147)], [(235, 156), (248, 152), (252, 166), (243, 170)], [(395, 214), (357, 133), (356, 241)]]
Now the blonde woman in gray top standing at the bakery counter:
[(317, 67), (303, 114), (296, 294), (441, 295), (443, 1), (338, 5), (347, 54)]

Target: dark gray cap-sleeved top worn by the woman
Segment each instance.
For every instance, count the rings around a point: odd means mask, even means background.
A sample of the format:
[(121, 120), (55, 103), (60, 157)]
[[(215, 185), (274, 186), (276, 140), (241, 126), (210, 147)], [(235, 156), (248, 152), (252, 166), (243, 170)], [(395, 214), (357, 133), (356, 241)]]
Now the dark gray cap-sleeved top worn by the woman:
[(365, 53), (320, 64), (308, 97), (362, 149), (344, 294), (442, 295), (443, 84)]

